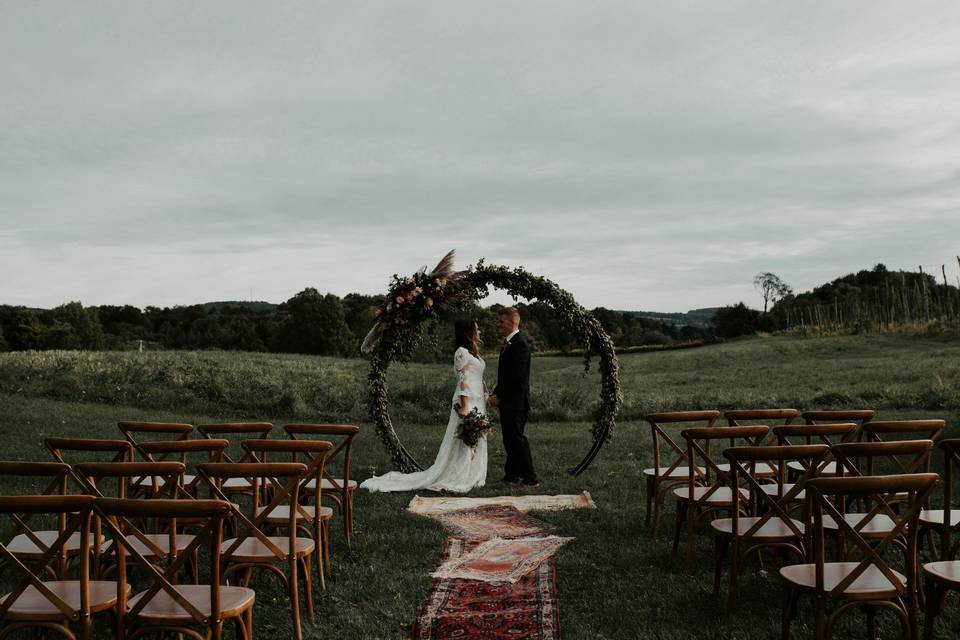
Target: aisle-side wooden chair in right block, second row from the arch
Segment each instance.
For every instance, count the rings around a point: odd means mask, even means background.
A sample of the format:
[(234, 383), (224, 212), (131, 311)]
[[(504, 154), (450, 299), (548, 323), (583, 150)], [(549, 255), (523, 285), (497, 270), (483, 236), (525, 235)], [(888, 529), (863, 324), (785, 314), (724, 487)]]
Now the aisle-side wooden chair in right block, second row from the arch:
[[(701, 427), (684, 429), (680, 435), (686, 441), (687, 460), (693, 473), (687, 478), (685, 487), (676, 487), (673, 497), (677, 502), (677, 523), (673, 533), (673, 554), (676, 555), (680, 542), (680, 529), (687, 524), (687, 567), (693, 562), (693, 538), (701, 520), (718, 511), (733, 508), (733, 489), (727, 482), (729, 471), (720, 469), (711, 451), (714, 442), (727, 440), (735, 444), (755, 447), (770, 432), (764, 425), (746, 427)], [(737, 489), (743, 491), (742, 489)], [(747, 494), (742, 494), (747, 499)]]

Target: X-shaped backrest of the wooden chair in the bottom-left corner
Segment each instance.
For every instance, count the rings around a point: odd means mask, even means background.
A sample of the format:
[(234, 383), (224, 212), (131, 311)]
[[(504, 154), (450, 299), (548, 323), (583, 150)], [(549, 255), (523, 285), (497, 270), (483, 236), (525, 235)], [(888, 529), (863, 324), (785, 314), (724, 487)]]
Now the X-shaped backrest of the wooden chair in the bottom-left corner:
[[(55, 463), (50, 463), (55, 464)], [(63, 477), (66, 477), (63, 473)], [(0, 497), (0, 516), (6, 516), (13, 523), (15, 530), (24, 535), (41, 550), (39, 559), (32, 561), (34, 568), (28, 567), (15, 553), (7, 548), (8, 542), (0, 542), (0, 559), (6, 565), (5, 574), (14, 573), (18, 580), (12, 590), (0, 600), (0, 620), (7, 618), (7, 613), (17, 599), (29, 588), (44, 600), (57, 608), (64, 618), (74, 621), (85, 621), (90, 617), (90, 554), (80, 553), (79, 567), (79, 603), (71, 604), (60, 597), (50, 587), (43, 583), (40, 574), (44, 567), (48, 567), (60, 558), (66, 556), (67, 542), (74, 534), (79, 534), (80, 549), (90, 547), (90, 514), (93, 506), (93, 496), (86, 495), (34, 495), (34, 496), (2, 496)], [(59, 529), (59, 535), (52, 542), (43, 542), (27, 525), (24, 516), (54, 516), (64, 522)], [(89, 624), (89, 623), (87, 623)]]

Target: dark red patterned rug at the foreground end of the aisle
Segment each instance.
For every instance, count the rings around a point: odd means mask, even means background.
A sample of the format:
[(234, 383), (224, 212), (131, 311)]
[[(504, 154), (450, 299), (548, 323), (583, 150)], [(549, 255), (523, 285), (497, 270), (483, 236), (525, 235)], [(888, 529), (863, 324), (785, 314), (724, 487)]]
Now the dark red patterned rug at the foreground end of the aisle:
[[(450, 539), (444, 564), (476, 544)], [(556, 563), (551, 557), (514, 583), (435, 579), (413, 623), (413, 638), (559, 640), (559, 614)]]

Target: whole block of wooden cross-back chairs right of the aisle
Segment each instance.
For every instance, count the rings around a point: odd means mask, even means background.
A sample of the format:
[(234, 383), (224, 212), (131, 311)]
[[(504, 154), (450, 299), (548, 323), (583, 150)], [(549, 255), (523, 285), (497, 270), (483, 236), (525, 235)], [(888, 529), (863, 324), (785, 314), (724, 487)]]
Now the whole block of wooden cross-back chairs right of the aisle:
[[(774, 411), (780, 410), (763, 410), (767, 417)], [(662, 424), (682, 422), (680, 417), (712, 423), (718, 417), (716, 412), (706, 413), (658, 414), (652, 418)], [(739, 413), (739, 417), (748, 419), (744, 414), (755, 416), (759, 411)], [(797, 598), (812, 593), (817, 638), (829, 637), (841, 615), (862, 607), (867, 611), (868, 628), (874, 626), (876, 610), (885, 608), (897, 614), (904, 637), (912, 639), (919, 637), (918, 539), (922, 540), (926, 532), (933, 547), (934, 534), (939, 533), (939, 560), (925, 565), (923, 571), (927, 582), (925, 635), (932, 637), (945, 593), (960, 589), (960, 561), (954, 560), (960, 545), (950, 543), (951, 532), (960, 525), (960, 510), (950, 508), (953, 470), (960, 464), (960, 440), (941, 443), (945, 457), (944, 508), (929, 508), (938, 479), (929, 473), (930, 455), (933, 440), (943, 428), (940, 420), (859, 424), (817, 424), (811, 420), (806, 425), (773, 429), (738, 424), (683, 429), (681, 436), (687, 446), (682, 462), (691, 471), (677, 478), (681, 464), (675, 462), (673, 469), (668, 469), (673, 476), (664, 474), (673, 482), (677, 498), (674, 553), (685, 519), (689, 566), (694, 533), (703, 520), (712, 518), (714, 590), (719, 592), (723, 563), (729, 553), (731, 604), (739, 567), (750, 556), (760, 558), (762, 549), (773, 547), (797, 558), (798, 564), (781, 569), (787, 585), (784, 638), (789, 637)], [(768, 441), (771, 436), (773, 440)], [(891, 441), (891, 437), (911, 439)], [(797, 444), (797, 438), (806, 443)], [(710, 444), (717, 442), (731, 445), (723, 450), (726, 464), (711, 455)], [(717, 517), (723, 512), (727, 517)], [(834, 541), (837, 562), (826, 561), (825, 538)], [(884, 558), (890, 548), (903, 551), (903, 573)], [(827, 616), (826, 605), (831, 600), (841, 604)]]

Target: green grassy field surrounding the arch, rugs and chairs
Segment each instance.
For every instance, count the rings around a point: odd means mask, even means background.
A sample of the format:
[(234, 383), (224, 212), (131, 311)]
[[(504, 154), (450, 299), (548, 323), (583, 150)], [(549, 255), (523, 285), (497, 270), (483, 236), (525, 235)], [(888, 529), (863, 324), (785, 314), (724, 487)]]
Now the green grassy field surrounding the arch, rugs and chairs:
[[(740, 605), (710, 593), (712, 541), (701, 536), (697, 569), (669, 555), (672, 506), (651, 538), (643, 526), (649, 466), (649, 411), (758, 406), (873, 408), (881, 418), (942, 417), (960, 435), (960, 341), (909, 337), (774, 337), (621, 359), (624, 409), (614, 439), (574, 478), (565, 469), (589, 445), (589, 416), (599, 378), (576, 358), (535, 358), (534, 415), (527, 434), (542, 479), (540, 493), (587, 490), (598, 508), (542, 514), (576, 541), (558, 555), (561, 623), (566, 638), (779, 637), (782, 591), (775, 570), (748, 571)], [(496, 362), (488, 362), (493, 382)], [(113, 437), (119, 420), (338, 421), (361, 425), (354, 475), (389, 468), (365, 415), (362, 360), (221, 352), (0, 354), (0, 438), (7, 459), (46, 459), (48, 435)], [(394, 366), (392, 415), (400, 437), (429, 463), (446, 425), (452, 391), (447, 365)], [(503, 452), (491, 441), (488, 485), (477, 495), (522, 491), (499, 484)], [(10, 487), (12, 488), (12, 487)], [(411, 494), (357, 497), (352, 548), (333, 531), (333, 576), (320, 596), (310, 638), (403, 638), (425, 599), (444, 533), (406, 513)], [(668, 502), (669, 505), (669, 502)], [(257, 586), (258, 638), (289, 638), (289, 620), (271, 581)], [(272, 600), (277, 600), (271, 604)], [(939, 627), (960, 632), (956, 600)], [(886, 637), (897, 637), (893, 618)], [(812, 637), (809, 603), (795, 638)], [(837, 637), (863, 637), (851, 616)], [(854, 633), (854, 635), (850, 635)]]

